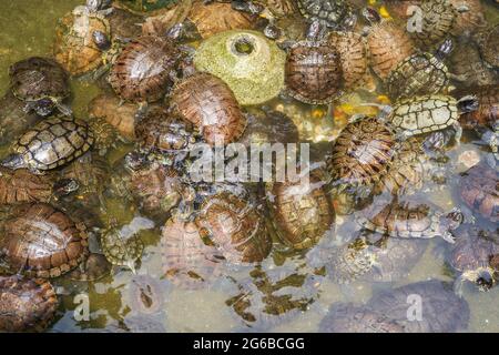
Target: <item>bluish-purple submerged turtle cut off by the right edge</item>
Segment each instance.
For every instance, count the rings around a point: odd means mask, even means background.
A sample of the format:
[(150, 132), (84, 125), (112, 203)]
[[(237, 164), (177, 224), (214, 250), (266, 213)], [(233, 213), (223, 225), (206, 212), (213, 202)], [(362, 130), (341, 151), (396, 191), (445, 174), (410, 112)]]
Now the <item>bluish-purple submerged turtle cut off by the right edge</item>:
[(480, 163), (465, 173), (458, 182), (462, 202), (483, 219), (499, 221), (499, 173)]

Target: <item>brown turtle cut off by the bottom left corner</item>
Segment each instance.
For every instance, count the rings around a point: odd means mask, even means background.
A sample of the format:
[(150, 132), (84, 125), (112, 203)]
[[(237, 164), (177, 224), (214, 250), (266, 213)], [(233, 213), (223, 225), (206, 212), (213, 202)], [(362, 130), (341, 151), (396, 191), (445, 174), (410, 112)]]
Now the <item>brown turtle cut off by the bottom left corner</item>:
[(0, 276), (0, 332), (42, 332), (53, 320), (58, 305), (48, 281)]

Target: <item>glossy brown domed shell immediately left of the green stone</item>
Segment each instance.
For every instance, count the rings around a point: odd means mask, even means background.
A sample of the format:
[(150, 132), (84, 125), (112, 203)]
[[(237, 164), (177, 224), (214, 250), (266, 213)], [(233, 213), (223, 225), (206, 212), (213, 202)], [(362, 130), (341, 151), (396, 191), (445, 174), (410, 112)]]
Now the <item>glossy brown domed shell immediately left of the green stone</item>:
[(116, 94), (131, 102), (155, 102), (173, 85), (180, 51), (166, 38), (140, 37), (130, 41), (116, 58), (109, 82)]

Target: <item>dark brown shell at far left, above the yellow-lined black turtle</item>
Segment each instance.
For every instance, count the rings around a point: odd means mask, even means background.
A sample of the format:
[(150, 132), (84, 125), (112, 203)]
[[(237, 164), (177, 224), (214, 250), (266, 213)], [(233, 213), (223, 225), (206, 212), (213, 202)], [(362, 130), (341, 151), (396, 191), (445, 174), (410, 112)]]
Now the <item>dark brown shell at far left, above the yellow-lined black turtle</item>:
[(67, 72), (51, 59), (22, 60), (10, 67), (9, 74), (13, 94), (23, 101), (61, 101), (71, 93)]

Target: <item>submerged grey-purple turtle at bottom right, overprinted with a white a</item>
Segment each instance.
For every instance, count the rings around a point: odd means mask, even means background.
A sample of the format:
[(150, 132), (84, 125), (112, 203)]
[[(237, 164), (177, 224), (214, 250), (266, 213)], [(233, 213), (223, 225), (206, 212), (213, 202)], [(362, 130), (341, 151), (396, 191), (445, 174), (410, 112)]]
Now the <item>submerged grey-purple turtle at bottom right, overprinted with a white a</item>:
[(439, 280), (378, 292), (367, 306), (397, 322), (406, 333), (466, 331), (470, 317), (468, 303), (454, 294), (451, 285)]

